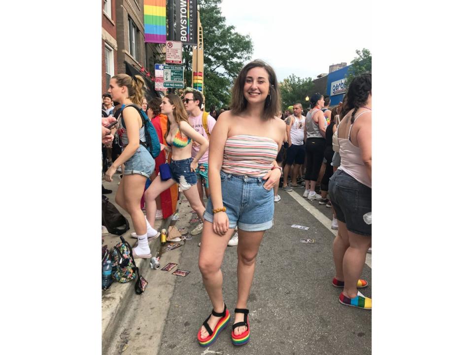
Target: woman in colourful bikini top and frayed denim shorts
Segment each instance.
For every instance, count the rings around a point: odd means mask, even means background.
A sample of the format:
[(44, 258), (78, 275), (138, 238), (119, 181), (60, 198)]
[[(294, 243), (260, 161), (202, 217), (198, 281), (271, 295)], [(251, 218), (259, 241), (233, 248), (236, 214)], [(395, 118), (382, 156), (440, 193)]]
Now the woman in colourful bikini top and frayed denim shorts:
[[(166, 95), (160, 107), (161, 113), (168, 116), (168, 131), (165, 139), (171, 148), (166, 146), (165, 149), (171, 149), (172, 151), (172, 178), (163, 181), (161, 176), (158, 176), (146, 189), (144, 193), (146, 215), (154, 223), (156, 197), (177, 182), (192, 209), (203, 220), (205, 206), (203, 206), (199, 197), (199, 191), (197, 190), (196, 169), (199, 159), (208, 149), (208, 141), (189, 124), (187, 112), (179, 96), (174, 94)], [(194, 159), (191, 158), (192, 140), (200, 144), (199, 152)]]

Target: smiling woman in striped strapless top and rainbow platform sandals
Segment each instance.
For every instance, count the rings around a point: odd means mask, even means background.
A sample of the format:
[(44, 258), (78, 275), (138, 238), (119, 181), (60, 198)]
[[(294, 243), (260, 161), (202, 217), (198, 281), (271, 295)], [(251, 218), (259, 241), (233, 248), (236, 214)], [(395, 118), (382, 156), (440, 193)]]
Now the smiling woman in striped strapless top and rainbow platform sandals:
[(275, 158), (286, 126), (277, 116), (279, 109), (274, 71), (263, 61), (250, 62), (235, 80), (231, 110), (220, 114), (212, 132), (208, 160), (212, 193), (204, 213), (199, 254), (203, 284), (213, 305), (197, 335), (204, 347), (215, 341), (230, 319), (220, 266), (236, 226), (238, 296), (232, 342), (243, 345), (249, 340), (246, 303), (260, 243), (272, 226), (272, 187), (281, 176)]

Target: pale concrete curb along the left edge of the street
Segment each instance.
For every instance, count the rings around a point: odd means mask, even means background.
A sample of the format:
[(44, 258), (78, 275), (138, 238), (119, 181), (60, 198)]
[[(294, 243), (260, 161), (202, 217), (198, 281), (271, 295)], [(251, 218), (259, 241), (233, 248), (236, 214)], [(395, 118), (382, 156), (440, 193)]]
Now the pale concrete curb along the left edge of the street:
[[(177, 209), (176, 212), (178, 212)], [(172, 214), (163, 221), (161, 228), (158, 231), (161, 231), (163, 228), (167, 230), (171, 221)], [(151, 249), (151, 254), (156, 256), (157, 251), (160, 251), (161, 248), (160, 238), (150, 242), (149, 247)], [(139, 270), (144, 270), (146, 267), (149, 267), (149, 260), (150, 259), (136, 259), (136, 266)], [(110, 337), (104, 335), (112, 333), (117, 328), (121, 322), (120, 315), (124, 313), (122, 310), (129, 306), (133, 297), (139, 297), (139, 295), (135, 293), (135, 282), (136, 279), (126, 284), (114, 282), (112, 287), (109, 289), (110, 292), (102, 295), (102, 317), (104, 313), (108, 315), (105, 319), (102, 318), (102, 353), (104, 349), (110, 346), (110, 344), (106, 342), (106, 339), (110, 339)]]

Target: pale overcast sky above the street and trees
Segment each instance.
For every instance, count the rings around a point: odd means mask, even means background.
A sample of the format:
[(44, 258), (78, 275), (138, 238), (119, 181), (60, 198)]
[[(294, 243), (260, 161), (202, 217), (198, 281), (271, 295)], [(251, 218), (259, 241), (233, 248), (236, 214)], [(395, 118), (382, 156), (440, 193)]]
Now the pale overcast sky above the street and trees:
[(268, 62), (278, 81), (315, 78), (331, 64), (349, 65), (356, 49), (372, 52), (369, 0), (223, 0), (221, 10), (227, 25), (250, 35), (252, 59)]

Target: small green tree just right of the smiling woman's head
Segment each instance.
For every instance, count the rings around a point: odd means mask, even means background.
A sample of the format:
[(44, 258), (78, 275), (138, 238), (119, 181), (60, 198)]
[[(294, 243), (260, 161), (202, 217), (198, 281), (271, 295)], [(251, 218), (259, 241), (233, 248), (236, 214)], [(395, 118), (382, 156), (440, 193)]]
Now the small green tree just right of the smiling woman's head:
[(299, 76), (291, 74), (288, 78), (280, 82), (279, 85), (281, 90), (281, 108), (283, 112), (287, 106), (296, 103), (301, 103), (305, 108), (307, 106), (305, 97), (310, 97), (310, 95), (315, 92), (314, 79), (311, 77), (301, 79)]

